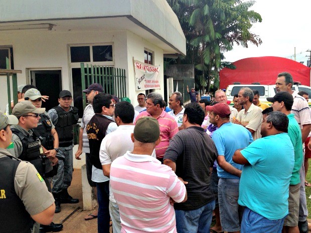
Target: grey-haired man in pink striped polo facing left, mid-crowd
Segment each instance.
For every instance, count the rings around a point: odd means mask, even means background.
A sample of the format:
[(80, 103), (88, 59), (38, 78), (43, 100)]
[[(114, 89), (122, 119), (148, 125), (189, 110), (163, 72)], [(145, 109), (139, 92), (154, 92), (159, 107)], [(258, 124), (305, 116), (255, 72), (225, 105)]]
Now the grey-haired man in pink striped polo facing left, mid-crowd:
[(170, 139), (178, 133), (177, 122), (174, 117), (163, 110), (163, 98), (161, 94), (157, 92), (152, 92), (147, 95), (146, 111), (140, 112), (135, 122), (143, 116), (151, 116), (159, 122), (162, 140), (160, 144), (156, 146), (156, 155), (157, 159), (163, 163), (163, 156), (169, 147)]

